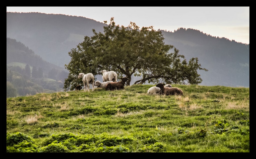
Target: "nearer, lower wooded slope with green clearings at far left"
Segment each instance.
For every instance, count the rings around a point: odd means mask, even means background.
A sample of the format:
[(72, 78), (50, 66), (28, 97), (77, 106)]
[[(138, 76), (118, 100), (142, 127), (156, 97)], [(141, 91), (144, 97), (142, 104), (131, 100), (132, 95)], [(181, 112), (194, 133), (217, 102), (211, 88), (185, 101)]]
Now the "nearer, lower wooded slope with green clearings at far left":
[(15, 39), (6, 38), (6, 97), (63, 91), (68, 72), (42, 60)]

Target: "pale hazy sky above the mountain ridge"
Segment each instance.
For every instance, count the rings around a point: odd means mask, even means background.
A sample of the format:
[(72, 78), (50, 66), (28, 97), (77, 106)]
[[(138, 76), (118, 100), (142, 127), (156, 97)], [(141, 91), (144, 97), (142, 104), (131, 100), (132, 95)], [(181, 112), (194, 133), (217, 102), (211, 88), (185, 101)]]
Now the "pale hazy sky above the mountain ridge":
[(120, 26), (130, 22), (139, 27), (174, 31), (192, 28), (249, 44), (249, 7), (6, 7), (6, 12), (39, 12), (82, 16)]

